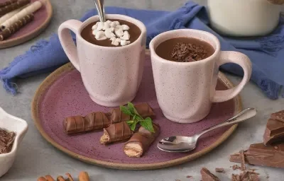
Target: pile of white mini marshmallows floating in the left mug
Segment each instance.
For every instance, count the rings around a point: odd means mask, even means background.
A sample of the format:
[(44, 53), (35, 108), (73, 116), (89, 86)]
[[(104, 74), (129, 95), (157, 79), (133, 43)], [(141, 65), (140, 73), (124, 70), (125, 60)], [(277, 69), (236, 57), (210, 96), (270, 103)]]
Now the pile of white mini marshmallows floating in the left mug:
[(128, 25), (120, 25), (119, 21), (97, 22), (92, 26), (92, 34), (97, 40), (111, 40), (111, 45), (121, 46), (130, 44)]

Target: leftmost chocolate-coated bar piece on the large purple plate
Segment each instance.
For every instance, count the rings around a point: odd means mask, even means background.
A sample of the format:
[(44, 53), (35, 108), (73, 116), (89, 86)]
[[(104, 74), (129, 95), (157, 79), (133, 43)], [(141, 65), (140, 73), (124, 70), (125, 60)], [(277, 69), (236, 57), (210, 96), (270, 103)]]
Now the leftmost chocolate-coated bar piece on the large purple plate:
[(104, 112), (93, 112), (89, 115), (67, 117), (63, 122), (63, 127), (67, 134), (79, 134), (84, 132), (100, 131), (109, 127), (111, 121)]

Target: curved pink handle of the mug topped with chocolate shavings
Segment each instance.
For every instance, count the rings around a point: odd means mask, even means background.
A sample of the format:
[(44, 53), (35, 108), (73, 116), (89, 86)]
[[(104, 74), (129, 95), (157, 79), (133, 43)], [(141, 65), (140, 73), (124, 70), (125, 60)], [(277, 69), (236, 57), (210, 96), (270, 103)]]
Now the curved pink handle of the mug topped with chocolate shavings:
[(249, 59), (249, 57), (246, 56), (246, 54), (233, 51), (222, 51), (220, 53), (220, 57), (217, 61), (217, 64), (218, 66), (221, 66), (222, 64), (226, 63), (239, 64), (239, 66), (244, 69), (244, 78), (241, 80), (241, 83), (239, 83), (239, 85), (235, 86), (234, 88), (230, 88), (226, 91), (216, 91), (212, 99), (213, 103), (221, 103), (236, 97), (236, 95), (241, 92), (241, 90), (251, 78), (251, 60)]

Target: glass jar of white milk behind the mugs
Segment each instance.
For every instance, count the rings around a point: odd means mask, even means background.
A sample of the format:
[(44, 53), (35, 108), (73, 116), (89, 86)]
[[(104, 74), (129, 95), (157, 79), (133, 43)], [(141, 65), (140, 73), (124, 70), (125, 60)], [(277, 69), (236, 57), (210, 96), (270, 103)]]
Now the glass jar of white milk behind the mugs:
[(208, 0), (212, 28), (223, 35), (267, 35), (278, 25), (281, 6), (268, 0)]

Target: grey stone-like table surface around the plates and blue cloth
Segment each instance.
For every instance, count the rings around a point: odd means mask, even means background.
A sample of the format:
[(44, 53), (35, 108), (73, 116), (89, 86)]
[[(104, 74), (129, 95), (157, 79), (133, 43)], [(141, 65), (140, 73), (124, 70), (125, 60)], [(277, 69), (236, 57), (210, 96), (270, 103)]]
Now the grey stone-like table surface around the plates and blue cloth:
[[(70, 18), (80, 18), (84, 11), (92, 7), (92, 1), (80, 0), (51, 0), (54, 8), (53, 19), (49, 27), (39, 37), (9, 49), (0, 49), (0, 68), (4, 68), (18, 54), (23, 54), (37, 40), (48, 38), (51, 33), (56, 33), (58, 26), (63, 21)], [(197, 1), (204, 4), (205, 1)], [(185, 3), (185, 0), (106, 0), (105, 3), (109, 6), (125, 6), (129, 8), (149, 8), (160, 10), (175, 10)], [(29, 130), (25, 139), (18, 150), (15, 163), (8, 174), (1, 177), (2, 181), (19, 180), (31, 181), (36, 180), (40, 175), (64, 175), (72, 173), (74, 177), (81, 170), (89, 172), (93, 181), (111, 181), (111, 180), (157, 180), (157, 181), (175, 181), (175, 180), (200, 180), (200, 169), (202, 167), (214, 170), (216, 167), (226, 168), (225, 174), (217, 174), (221, 180), (229, 180), (232, 170), (229, 168), (233, 163), (230, 163), (228, 158), (230, 153), (235, 153), (240, 149), (246, 149), (250, 144), (262, 141), (263, 132), (271, 112), (276, 110), (284, 110), (284, 99), (269, 100), (263, 93), (254, 85), (249, 83), (244, 91), (241, 92), (241, 97), (244, 107), (256, 107), (258, 115), (247, 122), (239, 125), (236, 132), (224, 142), (221, 146), (214, 149), (197, 160), (185, 163), (183, 165), (160, 170), (146, 171), (129, 171), (129, 170), (111, 170), (101, 168), (87, 163), (82, 163), (61, 153), (58, 149), (48, 144), (33, 124), (31, 118), (31, 100), (36, 88), (44, 80), (48, 74), (27, 78), (18, 82), (20, 94), (13, 96), (6, 93), (4, 88), (0, 88), (0, 106), (7, 112), (17, 117), (26, 119)], [(233, 83), (240, 81), (239, 77), (229, 76)], [(1, 166), (1, 165), (0, 165)], [(284, 172), (277, 168), (258, 168), (258, 173), (261, 173), (261, 180), (284, 180)], [(235, 172), (238, 173), (238, 172)], [(187, 178), (187, 175), (193, 178)], [(266, 177), (269, 175), (269, 179)]]

